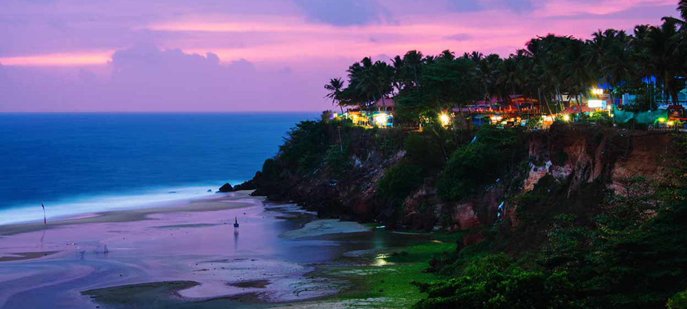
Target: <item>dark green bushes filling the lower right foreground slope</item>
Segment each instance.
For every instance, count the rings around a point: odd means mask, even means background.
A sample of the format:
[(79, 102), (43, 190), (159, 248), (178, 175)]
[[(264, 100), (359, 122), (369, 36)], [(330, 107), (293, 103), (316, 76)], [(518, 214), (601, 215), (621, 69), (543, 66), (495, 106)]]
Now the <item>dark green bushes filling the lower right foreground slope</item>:
[[(676, 144), (675, 159), (686, 163), (687, 139)], [(502, 238), (462, 249), (443, 278), (416, 284), (428, 297), (414, 308), (684, 308), (687, 168), (677, 166), (665, 183), (622, 181), (591, 222), (556, 216), (528, 254), (502, 253)], [(523, 194), (521, 205), (546, 198), (552, 181)], [(541, 214), (525, 208), (519, 216)]]

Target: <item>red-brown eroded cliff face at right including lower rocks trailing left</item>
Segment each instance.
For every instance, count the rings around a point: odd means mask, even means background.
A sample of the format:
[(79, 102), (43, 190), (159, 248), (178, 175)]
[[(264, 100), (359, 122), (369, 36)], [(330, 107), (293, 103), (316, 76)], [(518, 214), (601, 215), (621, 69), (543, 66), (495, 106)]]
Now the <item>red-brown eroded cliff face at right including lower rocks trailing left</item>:
[[(517, 227), (521, 224), (515, 216), (517, 196), (531, 192), (541, 179), (550, 176), (554, 184), (545, 184), (551, 186), (545, 188), (548, 201), (534, 211), (540, 211), (545, 218), (560, 213), (590, 218), (600, 211), (600, 203), (609, 190), (624, 194), (627, 179), (644, 177), (659, 181), (671, 164), (668, 158), (672, 140), (671, 135), (660, 132), (554, 126), (548, 131), (530, 133), (528, 158), (521, 169), (504, 171), (508, 176), (484, 188), (482, 194), (442, 203), (433, 188), (425, 185), (408, 198), (404, 209), (413, 214), (416, 205), (434, 203), (438, 206), (432, 213), (435, 221), (448, 225), (450, 230), (484, 227), (497, 220), (508, 220)], [(410, 220), (405, 223), (411, 225)]]

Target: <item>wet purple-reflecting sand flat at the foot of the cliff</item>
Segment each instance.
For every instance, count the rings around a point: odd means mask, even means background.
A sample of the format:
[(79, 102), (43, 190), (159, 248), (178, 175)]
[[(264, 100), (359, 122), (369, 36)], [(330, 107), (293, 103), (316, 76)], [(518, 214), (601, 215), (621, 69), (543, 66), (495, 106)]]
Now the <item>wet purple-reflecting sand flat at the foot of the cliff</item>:
[(299, 308), (348, 287), (312, 275), (317, 266), (403, 242), (313, 219), (238, 192), (2, 226), (0, 308)]

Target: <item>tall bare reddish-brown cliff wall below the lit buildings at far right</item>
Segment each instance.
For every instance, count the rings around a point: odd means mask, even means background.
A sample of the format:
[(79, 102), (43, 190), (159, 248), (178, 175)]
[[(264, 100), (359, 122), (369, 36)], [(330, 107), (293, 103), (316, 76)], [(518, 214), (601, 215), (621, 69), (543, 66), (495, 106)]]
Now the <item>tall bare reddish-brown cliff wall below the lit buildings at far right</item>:
[[(550, 176), (560, 185), (557, 192), (550, 194), (559, 194), (554, 201), (565, 211), (593, 214), (605, 194), (624, 193), (622, 183), (627, 179), (659, 181), (671, 164), (668, 157), (672, 140), (666, 133), (594, 126), (559, 126), (534, 132), (519, 193), (531, 192), (541, 179)], [(516, 226), (517, 207), (517, 201), (506, 201), (504, 205), (504, 219)]]

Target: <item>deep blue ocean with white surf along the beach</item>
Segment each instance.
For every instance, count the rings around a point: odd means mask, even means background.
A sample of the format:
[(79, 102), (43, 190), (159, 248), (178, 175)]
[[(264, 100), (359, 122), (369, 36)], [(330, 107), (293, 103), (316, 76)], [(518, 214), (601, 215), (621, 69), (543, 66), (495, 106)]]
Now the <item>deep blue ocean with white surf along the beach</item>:
[[(0, 225), (214, 194), (319, 113), (0, 113)], [(207, 192), (211, 190), (211, 192)]]

